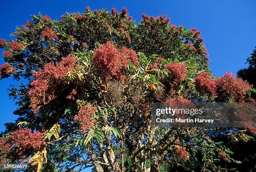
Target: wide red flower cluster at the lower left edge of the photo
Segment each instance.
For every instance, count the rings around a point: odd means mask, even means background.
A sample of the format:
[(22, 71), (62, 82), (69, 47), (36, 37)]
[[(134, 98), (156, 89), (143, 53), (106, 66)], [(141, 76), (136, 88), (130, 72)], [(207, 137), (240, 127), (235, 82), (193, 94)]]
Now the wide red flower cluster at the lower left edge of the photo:
[(19, 128), (1, 140), (0, 154), (7, 153), (10, 150), (12, 154), (18, 155), (19, 158), (28, 157), (44, 145), (44, 137), (45, 133), (32, 133), (31, 129)]

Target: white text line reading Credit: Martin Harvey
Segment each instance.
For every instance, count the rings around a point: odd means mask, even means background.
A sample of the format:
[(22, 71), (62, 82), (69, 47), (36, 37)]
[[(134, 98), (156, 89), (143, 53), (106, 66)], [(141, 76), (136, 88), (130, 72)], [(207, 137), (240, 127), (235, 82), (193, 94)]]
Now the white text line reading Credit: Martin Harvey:
[(162, 122), (162, 123), (213, 123), (214, 119), (199, 119), (199, 118), (195, 118), (195, 119), (181, 119), (181, 118), (167, 118), (167, 119), (160, 119), (157, 118), (156, 122)]

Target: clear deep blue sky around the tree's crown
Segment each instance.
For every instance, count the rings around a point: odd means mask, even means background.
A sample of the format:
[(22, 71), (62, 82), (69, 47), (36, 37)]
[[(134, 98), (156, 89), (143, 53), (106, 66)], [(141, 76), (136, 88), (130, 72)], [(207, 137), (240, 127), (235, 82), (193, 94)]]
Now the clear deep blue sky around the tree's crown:
[[(86, 6), (92, 10), (116, 8), (118, 11), (126, 7), (138, 22), (143, 13), (167, 14), (172, 24), (201, 31), (215, 76), (247, 67), (246, 58), (256, 46), (256, 0), (2, 0), (0, 4), (0, 38), (7, 40), (16, 25), (24, 25), (31, 14), (38, 12), (60, 19), (66, 11), (84, 12)], [(13, 78), (0, 82), (0, 131), (4, 130), (4, 123), (16, 119), (12, 114), (15, 103), (7, 95), (11, 84)]]

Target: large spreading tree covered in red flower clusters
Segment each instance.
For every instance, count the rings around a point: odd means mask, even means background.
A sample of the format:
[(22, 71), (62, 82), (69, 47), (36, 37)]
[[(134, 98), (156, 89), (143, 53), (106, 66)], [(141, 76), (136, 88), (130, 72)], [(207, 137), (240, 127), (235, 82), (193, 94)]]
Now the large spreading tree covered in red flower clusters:
[(61, 18), (33, 15), (16, 29), (16, 40), (0, 40), (7, 62), (1, 77), (28, 80), (10, 89), (20, 119), (1, 138), (2, 161), (97, 172), (166, 171), (170, 164), (215, 171), (239, 163), (215, 137), (253, 139), (252, 127), (151, 126), (151, 102), (243, 101), (252, 89), (231, 73), (210, 76), (200, 31), (169, 25), (166, 16), (143, 14), (137, 25), (125, 8), (87, 7)]

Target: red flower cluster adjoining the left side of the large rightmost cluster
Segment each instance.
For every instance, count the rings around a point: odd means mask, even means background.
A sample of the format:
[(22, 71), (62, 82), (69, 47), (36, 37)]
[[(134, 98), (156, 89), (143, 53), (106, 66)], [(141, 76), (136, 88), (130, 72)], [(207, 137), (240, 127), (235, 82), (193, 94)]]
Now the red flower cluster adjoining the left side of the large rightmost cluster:
[(195, 77), (195, 87), (202, 94), (215, 96), (215, 80), (211, 80), (207, 72), (201, 72), (199, 76)]

